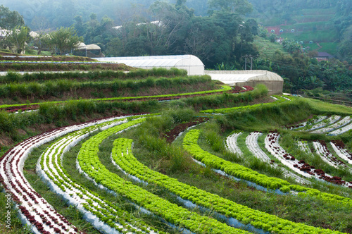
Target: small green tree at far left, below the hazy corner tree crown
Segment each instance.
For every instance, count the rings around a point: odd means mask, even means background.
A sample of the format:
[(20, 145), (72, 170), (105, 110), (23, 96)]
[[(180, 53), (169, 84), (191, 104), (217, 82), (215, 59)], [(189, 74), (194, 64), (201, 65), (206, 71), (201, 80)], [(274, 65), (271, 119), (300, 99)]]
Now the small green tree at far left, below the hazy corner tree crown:
[(26, 26), (14, 27), (6, 35), (6, 44), (13, 52), (21, 54), (25, 50), (25, 44), (30, 40), (29, 32), (30, 30)]

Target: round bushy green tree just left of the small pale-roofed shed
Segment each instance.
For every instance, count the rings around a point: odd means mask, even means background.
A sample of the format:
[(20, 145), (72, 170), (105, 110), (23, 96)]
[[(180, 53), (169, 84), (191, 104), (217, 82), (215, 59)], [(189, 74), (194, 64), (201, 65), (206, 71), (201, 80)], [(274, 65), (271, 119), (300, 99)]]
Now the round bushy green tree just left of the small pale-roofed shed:
[(60, 27), (49, 34), (49, 41), (62, 55), (65, 51), (77, 49), (80, 42), (83, 42), (83, 37), (78, 37), (73, 27)]

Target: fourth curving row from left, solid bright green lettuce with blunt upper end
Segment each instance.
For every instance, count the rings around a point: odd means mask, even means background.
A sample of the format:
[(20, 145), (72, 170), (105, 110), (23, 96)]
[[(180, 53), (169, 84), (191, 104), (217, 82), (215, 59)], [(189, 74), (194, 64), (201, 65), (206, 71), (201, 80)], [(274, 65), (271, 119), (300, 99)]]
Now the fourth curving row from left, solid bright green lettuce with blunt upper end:
[(189, 199), (198, 206), (206, 207), (227, 217), (236, 218), (241, 223), (251, 224), (255, 228), (271, 233), (340, 233), (334, 230), (307, 226), (303, 223), (294, 223), (262, 211), (256, 211), (153, 171), (133, 156), (131, 139), (118, 138), (113, 145), (112, 158), (126, 173), (147, 183), (165, 187), (175, 195), (182, 197), (182, 199)]

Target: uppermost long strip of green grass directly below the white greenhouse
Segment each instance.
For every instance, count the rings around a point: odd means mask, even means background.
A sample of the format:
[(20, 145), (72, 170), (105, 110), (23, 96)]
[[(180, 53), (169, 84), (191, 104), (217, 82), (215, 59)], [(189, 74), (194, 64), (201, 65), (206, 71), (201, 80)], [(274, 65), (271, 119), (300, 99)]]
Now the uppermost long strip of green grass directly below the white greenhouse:
[(38, 72), (38, 73), (15, 73), (8, 72), (6, 75), (0, 76), (0, 84), (10, 82), (42, 82), (44, 80), (58, 80), (58, 79), (87, 79), (87, 80), (102, 80), (111, 78), (125, 80), (125, 79), (139, 79), (139, 78), (156, 78), (156, 77), (174, 77), (187, 76), (187, 70), (177, 68), (153, 68), (153, 69), (135, 69), (130, 71), (122, 70), (93, 70), (88, 72), (67, 71), (62, 73)]

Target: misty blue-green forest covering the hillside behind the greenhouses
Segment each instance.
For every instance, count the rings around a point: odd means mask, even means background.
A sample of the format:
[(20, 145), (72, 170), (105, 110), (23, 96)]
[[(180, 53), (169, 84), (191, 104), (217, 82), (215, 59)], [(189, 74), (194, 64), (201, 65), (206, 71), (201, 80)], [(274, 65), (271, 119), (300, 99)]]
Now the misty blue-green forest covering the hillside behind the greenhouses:
[[(106, 56), (193, 54), (206, 68), (217, 70), (242, 70), (246, 59), (254, 58), (253, 69), (282, 75), (287, 92), (352, 89), (349, 0), (4, 0), (2, 4), (3, 10), (20, 13), (19, 24), (42, 34), (72, 27), (85, 44), (98, 44)], [(325, 15), (313, 17), (317, 13)], [(322, 22), (328, 27), (321, 32), (334, 35), (329, 43), (337, 44), (334, 56), (339, 59), (318, 62), (313, 58), (316, 50), (303, 51), (291, 38), (278, 44), (278, 35), (265, 29), (271, 23), (305, 25), (299, 22), (302, 18), (328, 20)], [(15, 20), (9, 22), (13, 27)], [(0, 27), (5, 24), (3, 17)], [(320, 28), (315, 30), (318, 34)], [(270, 55), (260, 50), (254, 43), (260, 38), (277, 50)]]

